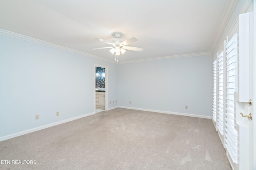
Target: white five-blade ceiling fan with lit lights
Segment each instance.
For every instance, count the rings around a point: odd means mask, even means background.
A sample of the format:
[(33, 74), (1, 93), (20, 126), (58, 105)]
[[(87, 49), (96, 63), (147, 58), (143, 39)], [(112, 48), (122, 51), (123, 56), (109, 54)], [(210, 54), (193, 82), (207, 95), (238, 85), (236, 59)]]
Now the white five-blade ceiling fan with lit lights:
[[(126, 46), (128, 44), (134, 43), (135, 41), (138, 41), (138, 39), (136, 39), (135, 37), (132, 37), (130, 39), (126, 39), (125, 41), (120, 42), (119, 37), (121, 36), (121, 33), (114, 33), (114, 36), (116, 37), (116, 39), (114, 39), (114, 41), (112, 41), (112, 43), (110, 43), (104, 39), (96, 38), (99, 41), (102, 41), (104, 43), (112, 45), (112, 47), (102, 47), (102, 48), (96, 48), (96, 49), (110, 49), (111, 48), (110, 52), (112, 54), (115, 53), (116, 55), (124, 54), (126, 50), (132, 50), (132, 51), (142, 51), (143, 50), (138, 47)], [(96, 49), (93, 49), (93, 50), (96, 50)]]

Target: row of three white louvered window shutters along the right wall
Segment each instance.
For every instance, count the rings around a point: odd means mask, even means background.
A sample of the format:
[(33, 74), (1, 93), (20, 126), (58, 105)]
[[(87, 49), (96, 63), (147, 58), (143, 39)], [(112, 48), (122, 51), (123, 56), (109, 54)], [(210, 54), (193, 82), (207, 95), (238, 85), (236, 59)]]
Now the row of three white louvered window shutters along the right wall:
[(235, 122), (235, 92), (238, 91), (238, 34), (213, 62), (212, 119), (230, 158), (238, 164), (238, 127)]

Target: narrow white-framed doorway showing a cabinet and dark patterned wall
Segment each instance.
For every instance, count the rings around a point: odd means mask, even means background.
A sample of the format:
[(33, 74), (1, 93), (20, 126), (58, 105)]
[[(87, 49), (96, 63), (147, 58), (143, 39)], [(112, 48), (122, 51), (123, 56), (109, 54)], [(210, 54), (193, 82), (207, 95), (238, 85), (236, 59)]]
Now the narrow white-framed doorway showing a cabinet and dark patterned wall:
[(108, 67), (94, 64), (94, 113), (108, 110)]

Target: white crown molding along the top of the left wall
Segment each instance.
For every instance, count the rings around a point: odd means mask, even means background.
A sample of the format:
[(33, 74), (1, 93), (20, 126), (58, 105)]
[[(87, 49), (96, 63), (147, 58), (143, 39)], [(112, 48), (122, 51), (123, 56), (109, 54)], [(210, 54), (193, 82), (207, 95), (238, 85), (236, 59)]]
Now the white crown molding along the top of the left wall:
[(87, 56), (87, 57), (92, 57), (94, 59), (99, 59), (99, 60), (108, 61), (108, 62), (111, 62), (111, 63), (116, 63), (115, 61), (112, 61), (110, 59), (105, 59), (103, 57), (99, 57), (99, 56), (96, 56), (96, 55), (91, 55), (91, 54), (88, 54), (88, 53), (84, 53), (82, 51), (70, 49), (70, 48), (67, 48), (67, 47), (63, 47), (63, 46), (60, 46), (60, 45), (56, 45), (56, 44), (53, 44), (53, 43), (42, 41), (40, 39), (28, 37), (26, 35), (21, 35), (21, 34), (18, 34), (18, 33), (11, 32), (11, 31), (6, 31), (4, 29), (0, 29), (0, 34), (7, 35), (7, 36), (10, 36), (10, 37), (15, 37), (15, 38), (18, 38), (18, 39), (23, 39), (23, 40), (30, 41), (30, 42), (33, 42), (33, 43), (38, 43), (38, 44), (46, 45), (46, 46), (49, 46), (49, 47), (54, 47), (56, 49), (61, 49), (61, 50), (64, 50), (64, 51), (69, 51), (69, 52), (80, 54), (80, 55), (84, 55), (84, 56)]

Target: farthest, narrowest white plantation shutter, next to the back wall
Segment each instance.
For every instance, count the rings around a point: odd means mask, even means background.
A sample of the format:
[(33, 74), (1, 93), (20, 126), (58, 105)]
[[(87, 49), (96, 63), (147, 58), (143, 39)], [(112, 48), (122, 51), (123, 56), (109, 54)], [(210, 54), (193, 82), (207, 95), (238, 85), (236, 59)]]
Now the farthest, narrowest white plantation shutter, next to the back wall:
[(213, 62), (212, 119), (216, 123), (217, 61)]

